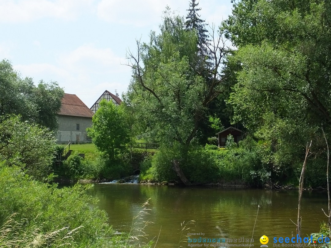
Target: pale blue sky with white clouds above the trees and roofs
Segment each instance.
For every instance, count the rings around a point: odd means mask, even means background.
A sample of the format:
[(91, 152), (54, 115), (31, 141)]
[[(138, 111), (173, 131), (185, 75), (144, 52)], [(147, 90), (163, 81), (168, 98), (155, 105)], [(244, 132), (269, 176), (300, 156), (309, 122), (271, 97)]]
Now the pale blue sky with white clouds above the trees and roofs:
[[(0, 0), (0, 58), (35, 84), (56, 81), (88, 107), (108, 90), (121, 96), (131, 79), (125, 55), (158, 32), (166, 6), (187, 15), (189, 0)], [(200, 0), (216, 26), (230, 0)]]

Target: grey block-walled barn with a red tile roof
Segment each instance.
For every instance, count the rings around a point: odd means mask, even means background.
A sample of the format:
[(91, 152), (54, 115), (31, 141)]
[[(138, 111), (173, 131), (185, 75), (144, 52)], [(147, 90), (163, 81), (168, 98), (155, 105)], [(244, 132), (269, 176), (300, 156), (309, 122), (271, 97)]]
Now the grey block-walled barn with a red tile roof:
[(93, 112), (76, 95), (65, 93), (58, 113), (57, 143), (87, 143), (86, 128), (92, 126)]

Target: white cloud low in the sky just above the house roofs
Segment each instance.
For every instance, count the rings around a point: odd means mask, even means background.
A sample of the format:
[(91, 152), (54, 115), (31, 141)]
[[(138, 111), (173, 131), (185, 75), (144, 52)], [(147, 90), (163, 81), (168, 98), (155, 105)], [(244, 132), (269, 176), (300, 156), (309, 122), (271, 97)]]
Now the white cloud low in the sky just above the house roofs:
[(111, 49), (92, 44), (62, 54), (54, 64), (16, 64), (14, 69), (35, 82), (57, 81), (66, 93), (77, 94), (89, 107), (105, 90), (114, 94), (115, 89), (119, 94), (125, 92), (131, 75), (130, 68), (121, 65)]

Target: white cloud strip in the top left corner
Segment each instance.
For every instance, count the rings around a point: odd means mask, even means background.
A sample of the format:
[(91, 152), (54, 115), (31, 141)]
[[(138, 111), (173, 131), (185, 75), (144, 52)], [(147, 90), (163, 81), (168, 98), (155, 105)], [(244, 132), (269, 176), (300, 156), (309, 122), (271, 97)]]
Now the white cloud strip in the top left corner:
[(44, 17), (65, 20), (76, 18), (90, 0), (3, 0), (0, 1), (0, 22), (27, 22)]

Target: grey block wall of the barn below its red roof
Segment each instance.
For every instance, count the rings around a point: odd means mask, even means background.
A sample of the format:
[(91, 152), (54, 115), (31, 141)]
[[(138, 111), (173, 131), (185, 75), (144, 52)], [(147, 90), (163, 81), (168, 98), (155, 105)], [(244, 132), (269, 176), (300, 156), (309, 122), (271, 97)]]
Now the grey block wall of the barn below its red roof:
[[(56, 138), (58, 144), (68, 144), (69, 140), (71, 144), (92, 142), (86, 134), (86, 128), (92, 126), (92, 118), (58, 115), (58, 119), (59, 131)], [(77, 130), (77, 124), (79, 124), (79, 130)]]

